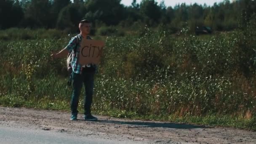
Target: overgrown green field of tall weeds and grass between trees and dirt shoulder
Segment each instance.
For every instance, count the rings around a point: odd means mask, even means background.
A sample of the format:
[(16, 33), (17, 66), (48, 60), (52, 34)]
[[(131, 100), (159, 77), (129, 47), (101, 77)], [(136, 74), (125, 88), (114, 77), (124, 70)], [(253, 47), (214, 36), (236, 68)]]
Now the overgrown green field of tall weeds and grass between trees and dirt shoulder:
[[(173, 37), (146, 27), (138, 35), (98, 36), (107, 45), (96, 76), (93, 112), (255, 131), (252, 29), (208, 37), (185, 30)], [(15, 32), (10, 31), (1, 35)], [(43, 31), (50, 35), (43, 38), (36, 36), (40, 31), (24, 30), (32, 35), (29, 39), (0, 40), (0, 105), (69, 111), (72, 89), (65, 59), (52, 61), (50, 53), (64, 48), (73, 35), (59, 38)], [(81, 96), (80, 112), (82, 105)]]

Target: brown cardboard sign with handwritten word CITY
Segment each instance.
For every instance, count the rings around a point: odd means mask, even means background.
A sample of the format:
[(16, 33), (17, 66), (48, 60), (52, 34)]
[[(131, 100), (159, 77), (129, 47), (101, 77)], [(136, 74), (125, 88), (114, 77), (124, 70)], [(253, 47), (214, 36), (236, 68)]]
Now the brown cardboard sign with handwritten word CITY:
[(80, 47), (79, 63), (99, 64), (105, 43), (101, 40), (82, 40)]

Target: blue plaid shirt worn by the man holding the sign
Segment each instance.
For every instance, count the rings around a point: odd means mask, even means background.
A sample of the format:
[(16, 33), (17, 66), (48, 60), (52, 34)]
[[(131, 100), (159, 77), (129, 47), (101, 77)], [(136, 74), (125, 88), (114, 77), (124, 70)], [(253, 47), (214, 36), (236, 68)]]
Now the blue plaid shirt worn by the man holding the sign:
[[(82, 70), (83, 70), (82, 65), (79, 64), (79, 54), (80, 54), (80, 47), (81, 47), (82, 39), (83, 39), (82, 35), (78, 34), (75, 37), (72, 37), (71, 40), (69, 41), (68, 45), (66, 46), (66, 49), (69, 51), (69, 53), (74, 51), (74, 53), (72, 55), (71, 66), (72, 66), (73, 72), (75, 72), (77, 74), (81, 74)], [(87, 36), (87, 39), (91, 40), (91, 37)], [(96, 65), (93, 64), (92, 67), (96, 68)]]

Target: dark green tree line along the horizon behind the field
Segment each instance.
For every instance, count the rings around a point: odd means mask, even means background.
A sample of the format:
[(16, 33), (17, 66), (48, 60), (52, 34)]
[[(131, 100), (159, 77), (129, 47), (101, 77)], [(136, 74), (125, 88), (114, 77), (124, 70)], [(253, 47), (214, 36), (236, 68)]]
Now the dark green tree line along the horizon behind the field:
[(121, 0), (0, 0), (0, 29), (11, 27), (76, 30), (81, 19), (93, 27), (149, 27), (164, 25), (173, 31), (182, 27), (207, 26), (217, 31), (239, 27), (256, 12), (256, 0), (224, 0), (212, 6), (185, 3), (167, 7), (162, 1), (133, 0), (131, 6)]

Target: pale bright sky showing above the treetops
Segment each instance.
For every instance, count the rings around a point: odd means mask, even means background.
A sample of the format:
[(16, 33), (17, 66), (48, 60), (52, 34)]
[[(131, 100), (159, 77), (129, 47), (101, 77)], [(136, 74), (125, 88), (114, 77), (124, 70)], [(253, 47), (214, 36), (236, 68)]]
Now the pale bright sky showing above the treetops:
[[(133, 0), (122, 0), (121, 3), (128, 6), (131, 5)], [(157, 3), (159, 4), (162, 0), (155, 0), (157, 1)], [(213, 5), (214, 3), (220, 3), (224, 0), (164, 0), (165, 2), (165, 6), (172, 6), (174, 7), (176, 4), (181, 4), (181, 3), (186, 3), (187, 5), (190, 5), (191, 3), (197, 3), (197, 4), (204, 4), (206, 3), (206, 5)], [(141, 0), (137, 0), (137, 3), (140, 3)]]

